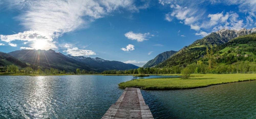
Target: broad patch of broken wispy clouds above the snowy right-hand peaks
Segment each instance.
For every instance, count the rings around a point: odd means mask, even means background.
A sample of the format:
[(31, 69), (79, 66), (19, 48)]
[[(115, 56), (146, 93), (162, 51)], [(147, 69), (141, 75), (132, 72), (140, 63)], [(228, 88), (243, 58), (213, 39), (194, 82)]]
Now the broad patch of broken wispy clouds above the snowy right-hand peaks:
[[(159, 4), (163, 6), (170, 6), (170, 12), (165, 15), (165, 20), (173, 21), (179, 20), (179, 23), (189, 25), (190, 29), (196, 30), (200, 34), (201, 30), (212, 29), (211, 32), (226, 28), (239, 30), (243, 27), (256, 25), (255, 12), (256, 2), (251, 0), (224, 0), (224, 1), (175, 1), (175, 0), (159, 0)], [(233, 11), (217, 12), (215, 14), (205, 14), (208, 10), (201, 5), (237, 5), (240, 12), (244, 12), (246, 23), (239, 18), (240, 16)], [(198, 11), (200, 9), (200, 12)], [(202, 35), (202, 36), (205, 36)]]

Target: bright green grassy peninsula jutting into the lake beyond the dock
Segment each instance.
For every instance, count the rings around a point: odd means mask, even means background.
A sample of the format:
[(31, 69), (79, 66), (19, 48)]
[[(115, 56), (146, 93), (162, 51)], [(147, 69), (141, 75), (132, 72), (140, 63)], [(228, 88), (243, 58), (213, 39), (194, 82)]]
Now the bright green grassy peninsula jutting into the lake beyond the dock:
[(192, 74), (191, 78), (151, 78), (122, 82), (120, 88), (134, 87), (144, 90), (177, 90), (201, 88), (211, 85), (256, 80), (256, 74)]

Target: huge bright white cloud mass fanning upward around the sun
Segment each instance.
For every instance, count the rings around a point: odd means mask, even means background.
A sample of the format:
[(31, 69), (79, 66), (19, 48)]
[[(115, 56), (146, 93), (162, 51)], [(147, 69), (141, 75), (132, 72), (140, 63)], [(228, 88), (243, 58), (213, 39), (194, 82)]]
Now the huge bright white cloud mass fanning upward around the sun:
[[(18, 9), (22, 14), (15, 17), (26, 31), (14, 35), (1, 35), (1, 40), (33, 41), (45, 40), (55, 46), (54, 39), (64, 33), (86, 28), (89, 23), (105, 17), (115, 10), (125, 8), (137, 12), (147, 5), (135, 6), (131, 0), (37, 0), (37, 1), (6, 1), (8, 9)], [(2, 6), (2, 5), (1, 5)], [(33, 43), (32, 42), (32, 43)], [(26, 44), (25, 42), (24, 44)], [(45, 48), (44, 48), (45, 49)]]

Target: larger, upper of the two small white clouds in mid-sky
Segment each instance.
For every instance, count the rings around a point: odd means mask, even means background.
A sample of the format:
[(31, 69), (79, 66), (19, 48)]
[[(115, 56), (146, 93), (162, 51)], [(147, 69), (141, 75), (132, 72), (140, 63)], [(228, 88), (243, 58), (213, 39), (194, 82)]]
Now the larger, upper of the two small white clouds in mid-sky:
[(149, 36), (152, 36), (152, 35), (150, 35), (150, 33), (142, 34), (142, 33), (133, 33), (132, 31), (130, 31), (125, 33), (124, 36), (127, 37), (128, 39), (136, 40), (137, 42), (142, 42), (142, 41), (148, 40), (147, 38), (149, 38)]

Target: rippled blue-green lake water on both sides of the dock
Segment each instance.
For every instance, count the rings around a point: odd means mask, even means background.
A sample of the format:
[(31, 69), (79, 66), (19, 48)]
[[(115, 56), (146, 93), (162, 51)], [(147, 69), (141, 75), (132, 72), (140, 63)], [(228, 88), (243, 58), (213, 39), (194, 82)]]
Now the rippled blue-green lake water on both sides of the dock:
[[(101, 118), (123, 93), (118, 84), (131, 78), (0, 76), (0, 118)], [(141, 92), (155, 118), (256, 117), (256, 81)]]

